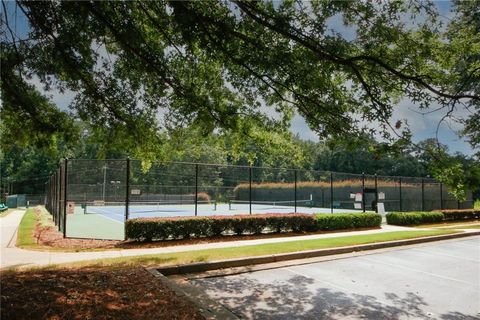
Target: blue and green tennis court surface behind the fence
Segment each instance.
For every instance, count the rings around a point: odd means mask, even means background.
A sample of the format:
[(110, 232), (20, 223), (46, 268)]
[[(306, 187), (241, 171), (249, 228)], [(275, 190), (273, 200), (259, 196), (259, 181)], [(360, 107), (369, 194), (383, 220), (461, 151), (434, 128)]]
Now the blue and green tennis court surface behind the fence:
[[(133, 202), (129, 205), (129, 219), (155, 217), (191, 217), (261, 213), (326, 213), (331, 208), (312, 207), (309, 200), (295, 201), (249, 201), (232, 200), (228, 203), (215, 201), (150, 201)], [(251, 207), (251, 210), (250, 210)], [(195, 212), (196, 211), (196, 212)], [(124, 202), (75, 203), (74, 209), (67, 214), (66, 235), (72, 238), (124, 239), (126, 206)], [(333, 209), (333, 213), (358, 212), (348, 209)]]

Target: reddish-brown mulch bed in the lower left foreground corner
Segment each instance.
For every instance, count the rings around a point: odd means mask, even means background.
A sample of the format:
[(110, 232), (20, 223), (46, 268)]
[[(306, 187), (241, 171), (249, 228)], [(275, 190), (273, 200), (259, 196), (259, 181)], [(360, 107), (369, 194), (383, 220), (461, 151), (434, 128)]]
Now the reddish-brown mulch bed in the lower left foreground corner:
[(4, 272), (2, 319), (204, 319), (145, 269)]

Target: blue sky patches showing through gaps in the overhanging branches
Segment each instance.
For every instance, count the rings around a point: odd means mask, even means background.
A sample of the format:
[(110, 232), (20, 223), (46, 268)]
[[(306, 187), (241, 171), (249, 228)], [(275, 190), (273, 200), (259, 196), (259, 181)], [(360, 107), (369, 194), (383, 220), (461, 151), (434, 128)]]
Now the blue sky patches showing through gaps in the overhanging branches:
[[(435, 5), (439, 9), (441, 16), (443, 16), (446, 20), (452, 17), (452, 13), (450, 12), (450, 1), (436, 1)], [(29, 29), (26, 18), (21, 14), (21, 12), (19, 12), (19, 9), (15, 9), (14, 2), (6, 2), (6, 6), (9, 24), (13, 26), (14, 32), (16, 32), (20, 38), (24, 38)], [(333, 19), (331, 27), (342, 33), (345, 38), (351, 37), (352, 35), (352, 30), (345, 28), (342, 25), (341, 19)], [(43, 91), (42, 85), (38, 79), (32, 79), (32, 83)], [(66, 109), (75, 95), (75, 93), (71, 91), (60, 93), (59, 91), (55, 90), (52, 90), (46, 94), (49, 95), (52, 101), (61, 109)], [(400, 101), (396, 108), (394, 108), (392, 123), (394, 123), (396, 120), (406, 119), (410, 130), (413, 133), (414, 142), (418, 142), (437, 136), (437, 126), (441, 116), (442, 113), (440, 112), (421, 114), (417, 105), (404, 99)], [(457, 114), (457, 116), (461, 116), (461, 114)], [(471, 146), (464, 139), (458, 136), (457, 133), (459, 130), (461, 130), (461, 126), (458, 123), (452, 121), (445, 122), (442, 123), (438, 128), (437, 137), (442, 144), (445, 144), (449, 147), (450, 152), (461, 152), (467, 155), (473, 154)], [(301, 139), (318, 141), (318, 136), (312, 130), (310, 130), (305, 120), (299, 115), (296, 115), (293, 118), (291, 131), (295, 134), (298, 134)]]

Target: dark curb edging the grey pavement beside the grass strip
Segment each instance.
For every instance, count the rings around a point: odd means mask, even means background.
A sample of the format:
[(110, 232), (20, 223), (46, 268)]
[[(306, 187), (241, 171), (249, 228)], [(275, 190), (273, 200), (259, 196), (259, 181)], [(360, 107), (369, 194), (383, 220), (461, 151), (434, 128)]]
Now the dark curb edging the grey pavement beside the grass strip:
[(149, 270), (153, 269), (156, 272), (162, 274), (163, 276), (179, 275), (179, 274), (186, 274), (186, 273), (200, 273), (200, 272), (217, 270), (217, 269), (245, 267), (249, 265), (267, 264), (267, 263), (296, 260), (296, 259), (315, 258), (315, 257), (322, 257), (322, 256), (336, 255), (336, 254), (352, 253), (357, 251), (367, 251), (367, 250), (399, 247), (399, 246), (406, 246), (406, 245), (412, 245), (412, 244), (418, 244), (418, 243), (457, 239), (457, 238), (472, 237), (472, 236), (479, 236), (479, 235), (480, 235), (480, 231), (471, 231), (471, 232), (464, 232), (464, 233), (454, 233), (454, 234), (447, 234), (447, 235), (440, 235), (440, 236), (370, 243), (370, 244), (339, 247), (339, 248), (332, 248), (332, 249), (318, 249), (318, 250), (282, 253), (282, 254), (274, 254), (274, 255), (266, 255), (266, 256), (246, 257), (246, 258), (239, 258), (239, 259), (190, 263), (190, 264), (182, 264), (182, 265), (175, 265), (175, 266), (168, 266), (168, 267), (149, 268)]

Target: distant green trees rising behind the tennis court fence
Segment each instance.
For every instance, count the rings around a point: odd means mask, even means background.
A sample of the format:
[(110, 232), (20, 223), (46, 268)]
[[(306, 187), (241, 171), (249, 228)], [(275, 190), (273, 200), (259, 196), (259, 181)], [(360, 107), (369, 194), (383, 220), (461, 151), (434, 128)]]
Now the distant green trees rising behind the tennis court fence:
[[(4, 144), (1, 154), (1, 174), (3, 186), (8, 181), (16, 181), (14, 188), (26, 193), (42, 193), (43, 183), (58, 167), (61, 159), (124, 159), (132, 157), (122, 142), (105, 143), (85, 123), (76, 122), (81, 131), (80, 139), (67, 142), (58, 139), (48, 148), (35, 146), (19, 147)], [(177, 129), (165, 134), (163, 153), (157, 160), (185, 161), (215, 164), (253, 165), (278, 168), (297, 168), (318, 171), (345, 173), (365, 173), (387, 176), (436, 177), (442, 171), (443, 162), (449, 167), (457, 167), (460, 172), (445, 176), (442, 182), (460, 186), (454, 189), (456, 196), (462, 197), (462, 191), (478, 190), (480, 184), (480, 166), (473, 157), (456, 153), (449, 154), (446, 146), (439, 145), (434, 139), (420, 142), (419, 147), (408, 147), (386, 153), (383, 144), (374, 138), (364, 137), (357, 146), (345, 146), (328, 141), (314, 142), (301, 140), (291, 133), (278, 135), (262, 133), (263, 140), (238, 140), (224, 134), (203, 135), (198, 128)], [(239, 141), (242, 141), (239, 143)], [(135, 158), (135, 157), (133, 157)], [(441, 161), (439, 161), (441, 159)], [(144, 160), (145, 170), (151, 161)], [(454, 164), (454, 165), (452, 165)], [(7, 178), (8, 177), (8, 178)], [(451, 180), (449, 180), (451, 179)], [(441, 178), (440, 178), (441, 180)], [(478, 191), (477, 191), (478, 196)]]

